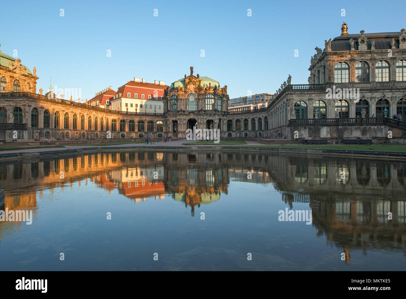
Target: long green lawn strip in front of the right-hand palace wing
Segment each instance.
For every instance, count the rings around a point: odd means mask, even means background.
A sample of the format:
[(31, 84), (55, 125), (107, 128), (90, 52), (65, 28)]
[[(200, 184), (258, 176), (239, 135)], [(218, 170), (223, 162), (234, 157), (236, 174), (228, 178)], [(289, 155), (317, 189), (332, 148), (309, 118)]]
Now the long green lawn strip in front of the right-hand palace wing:
[(340, 149), (354, 151), (387, 151), (406, 152), (406, 144), (339, 144), (339, 145), (246, 145), (250, 147), (279, 147), (279, 148), (317, 148)]

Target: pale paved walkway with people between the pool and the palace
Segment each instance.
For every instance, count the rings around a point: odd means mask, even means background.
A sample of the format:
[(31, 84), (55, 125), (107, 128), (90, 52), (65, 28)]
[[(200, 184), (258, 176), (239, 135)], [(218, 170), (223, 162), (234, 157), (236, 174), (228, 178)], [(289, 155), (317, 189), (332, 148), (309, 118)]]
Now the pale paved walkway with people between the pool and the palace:
[[(102, 148), (109, 148), (109, 147), (134, 147), (134, 146), (189, 146), (189, 145), (183, 145), (183, 143), (186, 142), (198, 142), (198, 141), (193, 141), (193, 140), (186, 140), (186, 139), (181, 139), (181, 140), (176, 140), (176, 141), (171, 141), (171, 142), (155, 142), (154, 144), (145, 144), (145, 143), (128, 143), (128, 144), (112, 144), (112, 145), (93, 145), (93, 144), (78, 144), (78, 145), (64, 145), (64, 147), (45, 147), (45, 148), (21, 148), (21, 149), (15, 149), (15, 150), (10, 150), (10, 151), (0, 151), (0, 156), (2, 153), (37, 153), (37, 152), (45, 152), (45, 151), (61, 151), (64, 149), (76, 149), (76, 148), (90, 148), (90, 147), (102, 147)], [(230, 146), (240, 146), (240, 145), (264, 145), (263, 143), (260, 142), (255, 142), (255, 141), (245, 141), (246, 144), (230, 144)], [(215, 144), (214, 144), (215, 145)], [(199, 146), (213, 146), (210, 144), (202, 144)], [(225, 145), (227, 146), (227, 145)]]

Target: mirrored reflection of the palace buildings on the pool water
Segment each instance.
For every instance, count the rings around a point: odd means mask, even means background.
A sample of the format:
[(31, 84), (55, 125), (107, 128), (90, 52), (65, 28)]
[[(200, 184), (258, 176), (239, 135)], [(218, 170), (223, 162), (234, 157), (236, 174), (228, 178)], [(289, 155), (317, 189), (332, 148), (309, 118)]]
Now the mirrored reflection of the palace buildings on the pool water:
[[(248, 171), (252, 179), (247, 178)], [(38, 190), (91, 180), (135, 201), (171, 194), (189, 205), (194, 215), (196, 205), (227, 194), (230, 179), (270, 183), (291, 209), (307, 203), (318, 234), (342, 247), (348, 258), (352, 248), (405, 249), (405, 163), (254, 152), (130, 152), (0, 165), (6, 203), (19, 208), (35, 208)], [(388, 212), (393, 220), (387, 219)]]

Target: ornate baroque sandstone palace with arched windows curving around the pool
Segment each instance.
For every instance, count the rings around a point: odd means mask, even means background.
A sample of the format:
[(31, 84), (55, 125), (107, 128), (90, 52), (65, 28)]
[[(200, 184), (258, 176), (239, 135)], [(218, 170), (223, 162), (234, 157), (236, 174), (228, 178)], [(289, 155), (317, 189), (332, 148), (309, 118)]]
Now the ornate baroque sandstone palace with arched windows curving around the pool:
[[(37, 94), (35, 68), (31, 73), (19, 59), (0, 52), (0, 142), (45, 137), (60, 143), (101, 140), (107, 138), (107, 131), (113, 139), (144, 138), (146, 134), (184, 138), (186, 130), (196, 126), (220, 129), (224, 139), (321, 138), (340, 143), (361, 138), (405, 143), (405, 29), (349, 34), (344, 23), (341, 35), (325, 40), (324, 46), (323, 50), (316, 47), (311, 57), (309, 84), (293, 85), (289, 75), (260, 109), (229, 110), (227, 85), (220, 87), (218, 81), (194, 76), (192, 67), (189, 76), (170, 86), (144, 83), (163, 89), (162, 94), (151, 94), (151, 100), (155, 96), (162, 100), (162, 113), (149, 106), (127, 111), (123, 96), (131, 98), (130, 104), (135, 103), (135, 96), (124, 91), (126, 85), (116, 92), (121, 104), (117, 109), (111, 108), (111, 102), (110, 109), (105, 109), (101, 102), (89, 105), (54, 98), (50, 93), (42, 95), (42, 89)], [(137, 80), (134, 85), (142, 87)], [(140, 92), (135, 93), (138, 99)]]

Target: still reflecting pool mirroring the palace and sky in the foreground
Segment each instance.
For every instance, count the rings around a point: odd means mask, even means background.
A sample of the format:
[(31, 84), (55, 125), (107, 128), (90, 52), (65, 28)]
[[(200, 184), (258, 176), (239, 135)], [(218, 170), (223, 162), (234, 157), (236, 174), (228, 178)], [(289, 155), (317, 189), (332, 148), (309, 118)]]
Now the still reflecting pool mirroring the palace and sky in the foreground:
[(32, 211), (0, 222), (6, 271), (406, 266), (403, 162), (97, 153), (0, 164), (0, 189), (0, 210)]

